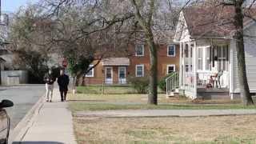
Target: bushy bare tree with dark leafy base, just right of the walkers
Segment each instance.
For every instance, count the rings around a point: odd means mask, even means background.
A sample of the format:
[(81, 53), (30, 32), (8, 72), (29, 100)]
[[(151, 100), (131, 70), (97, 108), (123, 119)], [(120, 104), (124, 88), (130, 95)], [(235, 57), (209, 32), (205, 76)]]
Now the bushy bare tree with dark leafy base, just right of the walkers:
[[(106, 15), (109, 13), (104, 9), (107, 4), (104, 1), (97, 4), (87, 1), (83, 6), (78, 6), (73, 1), (46, 2), (47, 6), (52, 7), (46, 10), (46, 18), (55, 22), (54, 36), (50, 42), (68, 60), (68, 69), (74, 79), (83, 80), (85, 74), (97, 66), (102, 58), (110, 55), (110, 51), (117, 47), (122, 50), (124, 40), (128, 38), (120, 30), (124, 21), (133, 15)], [(115, 37), (117, 34), (118, 37)], [(97, 62), (89, 69), (95, 60)]]

